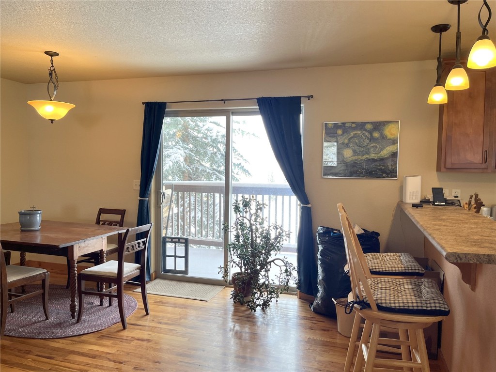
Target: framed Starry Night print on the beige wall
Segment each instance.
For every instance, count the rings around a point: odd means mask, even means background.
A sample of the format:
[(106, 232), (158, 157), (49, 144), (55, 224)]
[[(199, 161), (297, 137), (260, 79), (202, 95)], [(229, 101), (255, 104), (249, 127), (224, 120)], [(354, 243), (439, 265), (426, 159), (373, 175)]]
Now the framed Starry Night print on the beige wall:
[(326, 122), (322, 177), (398, 178), (399, 121)]

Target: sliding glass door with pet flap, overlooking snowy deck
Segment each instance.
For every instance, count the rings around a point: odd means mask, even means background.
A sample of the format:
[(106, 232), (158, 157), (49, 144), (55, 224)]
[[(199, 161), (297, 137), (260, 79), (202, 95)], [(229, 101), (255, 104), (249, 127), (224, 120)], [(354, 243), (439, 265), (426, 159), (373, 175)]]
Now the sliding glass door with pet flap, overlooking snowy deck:
[[(164, 120), (157, 164), (160, 190), (157, 276), (221, 283), (227, 261), (222, 226), (232, 200), (255, 195), (264, 217), (292, 232), (284, 253), (296, 264), (299, 207), (256, 112), (172, 112)], [(222, 282), (223, 283), (223, 282)]]

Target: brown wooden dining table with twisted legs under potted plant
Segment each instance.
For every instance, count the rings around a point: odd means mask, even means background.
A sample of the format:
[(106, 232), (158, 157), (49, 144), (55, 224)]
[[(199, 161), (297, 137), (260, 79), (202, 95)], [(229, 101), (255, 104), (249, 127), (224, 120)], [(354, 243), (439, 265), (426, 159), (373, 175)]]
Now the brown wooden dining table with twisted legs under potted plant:
[(70, 314), (74, 319), (77, 308), (77, 257), (100, 251), (100, 263), (105, 262), (107, 237), (126, 230), (127, 228), (120, 226), (43, 220), (40, 230), (21, 231), (19, 223), (14, 222), (0, 225), (0, 243), (3, 249), (21, 252), (21, 265), (26, 262), (26, 252), (68, 258)]

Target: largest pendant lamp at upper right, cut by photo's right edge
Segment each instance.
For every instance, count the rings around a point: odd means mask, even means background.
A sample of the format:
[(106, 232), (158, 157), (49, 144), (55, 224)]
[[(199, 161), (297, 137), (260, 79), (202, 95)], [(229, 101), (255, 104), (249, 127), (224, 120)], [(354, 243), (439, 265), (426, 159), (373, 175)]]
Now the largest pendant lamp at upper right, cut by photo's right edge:
[[(488, 20), (486, 23), (481, 21), (481, 12), (484, 6), (488, 9)], [(488, 34), (488, 24), (491, 20), (491, 8), (486, 0), (479, 10), (479, 24), (482, 27), (482, 35), (477, 38), (474, 46), (470, 50), (468, 56), (467, 67), (468, 68), (490, 68), (496, 66), (496, 48)]]

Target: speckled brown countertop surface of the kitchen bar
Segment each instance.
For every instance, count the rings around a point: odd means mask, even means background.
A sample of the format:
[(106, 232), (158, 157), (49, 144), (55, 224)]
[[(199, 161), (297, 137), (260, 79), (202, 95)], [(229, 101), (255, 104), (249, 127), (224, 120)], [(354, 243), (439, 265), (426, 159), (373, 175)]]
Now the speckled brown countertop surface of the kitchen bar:
[(448, 262), (496, 264), (496, 221), (455, 206), (398, 205)]

